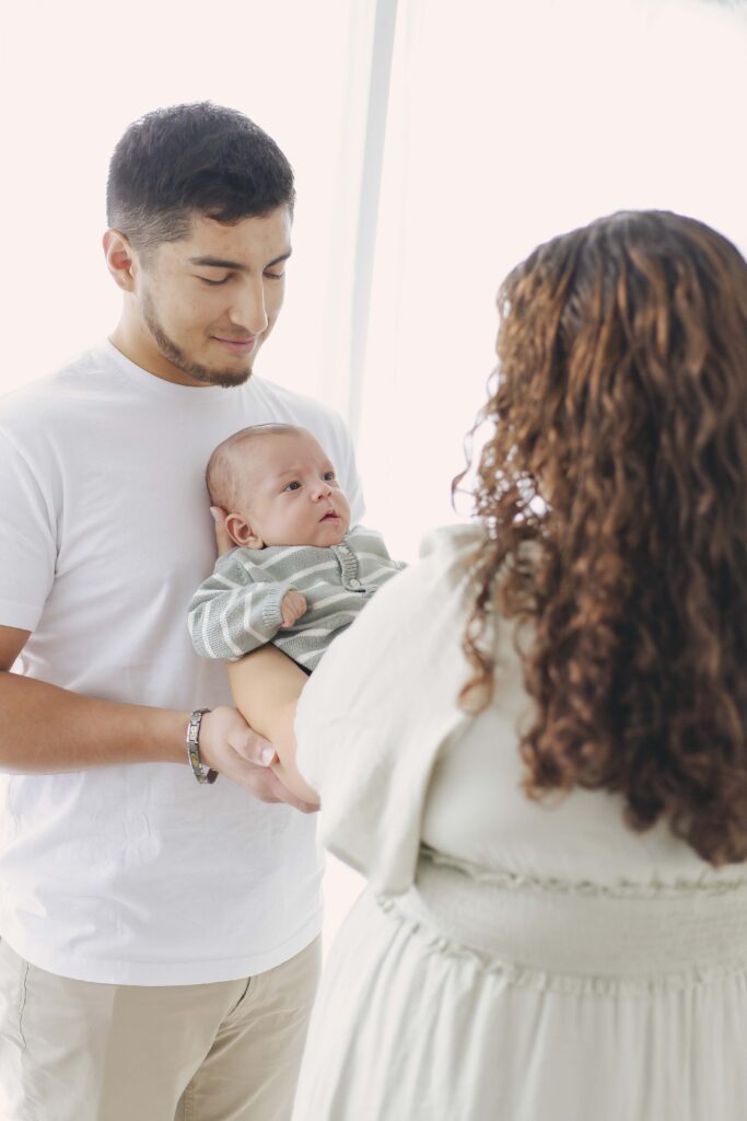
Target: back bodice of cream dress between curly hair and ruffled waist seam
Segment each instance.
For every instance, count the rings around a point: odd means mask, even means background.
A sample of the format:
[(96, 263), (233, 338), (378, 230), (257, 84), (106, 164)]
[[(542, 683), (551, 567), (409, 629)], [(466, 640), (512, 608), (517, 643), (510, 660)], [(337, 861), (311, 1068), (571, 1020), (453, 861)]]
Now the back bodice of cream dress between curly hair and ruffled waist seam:
[[(506, 626), (489, 706), (435, 766), (423, 842), (484, 872), (557, 881), (564, 890), (747, 886), (747, 864), (715, 869), (675, 837), (664, 818), (645, 832), (632, 830), (618, 794), (576, 788), (548, 802), (526, 797), (516, 725), (532, 702), (511, 639)], [(459, 683), (455, 686), (458, 693)]]

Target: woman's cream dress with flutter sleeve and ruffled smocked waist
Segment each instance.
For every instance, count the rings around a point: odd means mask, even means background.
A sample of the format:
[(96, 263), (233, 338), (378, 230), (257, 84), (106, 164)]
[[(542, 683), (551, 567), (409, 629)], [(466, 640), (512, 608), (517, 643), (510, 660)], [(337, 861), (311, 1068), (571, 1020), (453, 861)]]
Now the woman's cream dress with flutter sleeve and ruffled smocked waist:
[(332, 948), (295, 1121), (745, 1121), (747, 869), (715, 871), (622, 803), (520, 789), (530, 703), (456, 696), (471, 527), (325, 655), (298, 762), (321, 837), (368, 887)]

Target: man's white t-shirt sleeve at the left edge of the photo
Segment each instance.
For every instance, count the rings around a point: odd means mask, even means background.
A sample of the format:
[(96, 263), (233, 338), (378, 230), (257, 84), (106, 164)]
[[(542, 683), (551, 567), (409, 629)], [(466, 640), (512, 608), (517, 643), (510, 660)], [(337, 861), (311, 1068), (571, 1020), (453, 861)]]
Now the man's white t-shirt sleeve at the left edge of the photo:
[(0, 494), (0, 626), (32, 631), (55, 576), (55, 517), (27, 457), (3, 433)]

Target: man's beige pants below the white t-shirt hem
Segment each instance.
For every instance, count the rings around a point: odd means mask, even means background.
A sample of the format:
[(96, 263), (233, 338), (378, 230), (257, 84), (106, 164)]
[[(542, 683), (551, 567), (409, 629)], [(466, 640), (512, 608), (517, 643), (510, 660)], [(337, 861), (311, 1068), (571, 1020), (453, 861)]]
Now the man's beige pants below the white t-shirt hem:
[(241, 981), (140, 988), (46, 973), (0, 943), (2, 1121), (283, 1121), (319, 939)]

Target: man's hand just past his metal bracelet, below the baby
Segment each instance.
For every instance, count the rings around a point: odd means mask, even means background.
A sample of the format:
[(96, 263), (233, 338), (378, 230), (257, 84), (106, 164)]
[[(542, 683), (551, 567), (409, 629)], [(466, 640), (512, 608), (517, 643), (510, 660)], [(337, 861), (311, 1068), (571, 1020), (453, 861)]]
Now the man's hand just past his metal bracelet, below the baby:
[(272, 744), (253, 732), (235, 708), (222, 705), (203, 716), (199, 754), (207, 767), (243, 786), (260, 802), (284, 802), (302, 814), (318, 809), (301, 802), (283, 786), (270, 765), (277, 762)]

